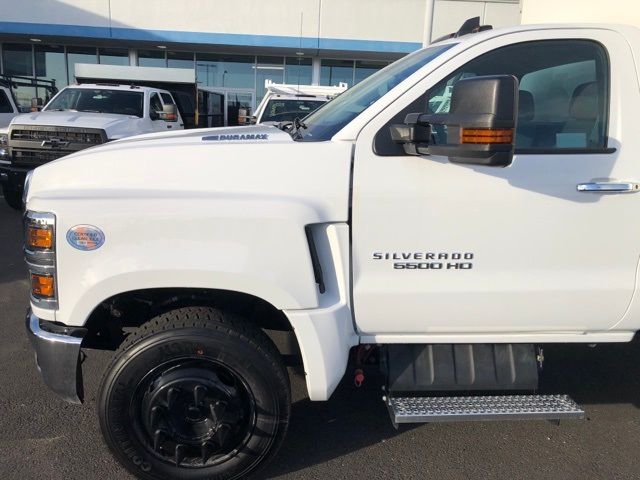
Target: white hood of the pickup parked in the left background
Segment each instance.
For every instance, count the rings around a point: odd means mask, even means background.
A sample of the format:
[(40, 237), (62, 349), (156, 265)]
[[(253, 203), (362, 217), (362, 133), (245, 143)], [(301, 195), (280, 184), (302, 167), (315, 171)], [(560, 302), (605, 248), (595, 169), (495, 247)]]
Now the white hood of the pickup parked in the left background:
[(91, 112), (34, 112), (18, 115), (13, 118), (12, 125), (48, 125), (56, 127), (100, 128), (112, 138), (127, 127), (140, 121), (139, 117), (119, 115), (115, 113)]

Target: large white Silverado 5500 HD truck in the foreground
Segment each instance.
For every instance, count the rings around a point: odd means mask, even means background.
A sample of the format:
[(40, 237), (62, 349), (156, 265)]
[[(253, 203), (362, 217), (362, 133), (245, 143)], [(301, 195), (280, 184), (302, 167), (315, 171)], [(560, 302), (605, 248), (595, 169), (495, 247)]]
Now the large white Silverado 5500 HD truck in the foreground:
[(80, 402), (81, 348), (117, 348), (99, 420), (134, 475), (274, 456), (278, 330), (311, 400), (379, 363), (395, 424), (584, 415), (536, 394), (541, 346), (640, 330), (640, 30), (462, 33), (286, 132), (141, 136), (30, 176), (37, 363)]

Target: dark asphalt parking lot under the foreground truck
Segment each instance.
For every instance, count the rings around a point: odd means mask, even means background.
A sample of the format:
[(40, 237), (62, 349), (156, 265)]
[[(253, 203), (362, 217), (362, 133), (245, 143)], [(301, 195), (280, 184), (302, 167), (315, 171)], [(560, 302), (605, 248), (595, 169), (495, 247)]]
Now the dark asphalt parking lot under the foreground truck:
[[(88, 351), (87, 401), (69, 405), (41, 382), (24, 333), (28, 284), (21, 215), (0, 202), (0, 479), (131, 478), (102, 444), (95, 398), (109, 353)], [(374, 386), (345, 382), (326, 403), (292, 375), (293, 418), (262, 478), (640, 478), (640, 344), (547, 348), (546, 391), (569, 393), (585, 421), (391, 426)]]

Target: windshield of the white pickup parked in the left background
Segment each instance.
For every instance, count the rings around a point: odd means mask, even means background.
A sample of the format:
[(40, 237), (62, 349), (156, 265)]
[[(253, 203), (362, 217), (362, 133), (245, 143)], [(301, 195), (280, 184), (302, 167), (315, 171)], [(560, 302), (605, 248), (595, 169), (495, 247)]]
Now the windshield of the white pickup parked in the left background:
[(45, 110), (117, 113), (143, 116), (144, 93), (125, 90), (65, 88)]

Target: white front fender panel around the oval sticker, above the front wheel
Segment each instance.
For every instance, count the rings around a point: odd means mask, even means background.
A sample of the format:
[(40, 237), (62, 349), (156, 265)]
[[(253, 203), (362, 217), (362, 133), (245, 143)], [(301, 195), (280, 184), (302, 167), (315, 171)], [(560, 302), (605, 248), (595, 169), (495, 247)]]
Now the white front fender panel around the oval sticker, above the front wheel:
[(147, 288), (233, 290), (280, 310), (318, 306), (304, 230), (318, 215), (303, 204), (266, 198), (145, 199), (135, 203), (140, 212), (132, 214), (130, 203), (111, 201), (108, 209), (91, 209), (104, 245), (80, 251), (65, 235), (86, 223), (87, 204), (74, 212), (78, 203), (64, 203), (56, 233), (58, 322), (82, 326), (105, 299)]

